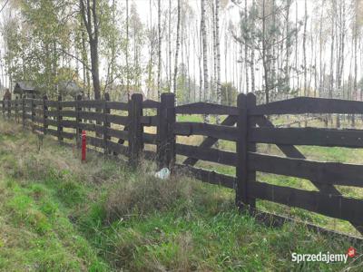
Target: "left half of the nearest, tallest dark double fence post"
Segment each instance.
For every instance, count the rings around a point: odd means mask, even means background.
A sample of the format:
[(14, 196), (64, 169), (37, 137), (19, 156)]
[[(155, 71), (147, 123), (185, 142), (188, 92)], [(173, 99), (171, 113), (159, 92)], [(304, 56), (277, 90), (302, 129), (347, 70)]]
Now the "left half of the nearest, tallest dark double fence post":
[(237, 98), (238, 118), (237, 130), (238, 140), (236, 142), (237, 151), (237, 167), (236, 167), (236, 205), (239, 209), (243, 209), (248, 201), (248, 116), (247, 116), (247, 96), (240, 93)]

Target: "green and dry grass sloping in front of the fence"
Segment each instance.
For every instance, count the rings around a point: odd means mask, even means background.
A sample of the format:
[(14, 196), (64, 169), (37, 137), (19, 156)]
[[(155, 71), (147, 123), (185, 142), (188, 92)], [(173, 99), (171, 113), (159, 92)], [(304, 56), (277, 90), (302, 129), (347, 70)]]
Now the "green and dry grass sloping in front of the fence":
[(37, 151), (36, 136), (5, 121), (0, 132), (0, 270), (362, 270), (360, 258), (292, 263), (291, 252), (346, 253), (351, 244), (303, 225), (260, 225), (234, 209), (229, 189), (157, 180), (147, 162), (135, 172), (123, 158), (89, 153), (83, 164), (47, 137)]

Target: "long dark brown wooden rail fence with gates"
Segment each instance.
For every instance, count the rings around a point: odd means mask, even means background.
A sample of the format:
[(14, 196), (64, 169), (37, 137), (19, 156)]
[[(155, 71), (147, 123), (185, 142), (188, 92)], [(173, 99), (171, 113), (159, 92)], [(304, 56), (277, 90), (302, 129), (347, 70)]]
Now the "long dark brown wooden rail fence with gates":
[[(240, 94), (237, 107), (207, 102), (175, 106), (172, 93), (163, 93), (161, 102), (142, 101), (141, 94), (132, 100), (110, 102), (108, 94), (102, 101), (63, 102), (39, 99), (5, 101), (2, 112), (15, 116), (24, 125), (31, 123), (36, 131), (53, 135), (59, 141), (80, 141), (82, 130), (93, 131), (87, 141), (105, 153), (123, 154), (132, 165), (142, 157), (157, 160), (159, 167), (186, 170), (195, 178), (236, 191), (236, 204), (255, 212), (256, 199), (297, 207), (319, 214), (348, 220), (363, 233), (363, 200), (341, 195), (335, 185), (363, 187), (363, 165), (307, 160), (294, 145), (363, 147), (363, 131), (321, 128), (280, 128), (270, 115), (280, 114), (363, 114), (363, 102), (299, 97), (281, 102), (256, 105), (256, 97)], [(145, 110), (152, 111), (145, 111)], [(152, 115), (151, 112), (154, 114)], [(221, 124), (177, 121), (178, 115), (221, 115)], [(144, 127), (156, 127), (156, 133)], [(66, 130), (64, 130), (66, 128)], [(69, 130), (73, 129), (73, 132)], [(176, 137), (204, 136), (199, 146), (177, 143)], [(236, 151), (215, 147), (218, 140), (233, 141)], [(123, 142), (125, 141), (125, 142)], [(127, 144), (126, 144), (127, 141)], [(275, 144), (285, 157), (257, 151), (257, 144)], [(155, 151), (146, 151), (152, 144)], [(177, 163), (176, 156), (186, 159)], [(206, 160), (235, 168), (229, 176), (195, 167)], [(309, 191), (261, 182), (256, 172), (310, 180), (318, 189)]]

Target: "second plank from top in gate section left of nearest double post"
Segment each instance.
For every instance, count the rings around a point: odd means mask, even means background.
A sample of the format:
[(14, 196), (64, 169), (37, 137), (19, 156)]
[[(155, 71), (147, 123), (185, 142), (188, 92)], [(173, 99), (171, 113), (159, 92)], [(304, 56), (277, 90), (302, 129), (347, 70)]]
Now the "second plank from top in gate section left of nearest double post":
[(182, 136), (211, 136), (226, 141), (237, 141), (238, 138), (238, 131), (235, 127), (202, 122), (176, 122), (174, 133)]

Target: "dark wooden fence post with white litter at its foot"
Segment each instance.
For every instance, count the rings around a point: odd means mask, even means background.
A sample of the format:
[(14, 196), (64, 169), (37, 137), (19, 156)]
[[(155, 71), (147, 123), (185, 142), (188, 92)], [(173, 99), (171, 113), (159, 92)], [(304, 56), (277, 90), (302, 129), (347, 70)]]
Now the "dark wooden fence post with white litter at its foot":
[(175, 163), (175, 136), (173, 132), (175, 123), (175, 95), (164, 92), (158, 109), (158, 162), (159, 168), (173, 168)]

